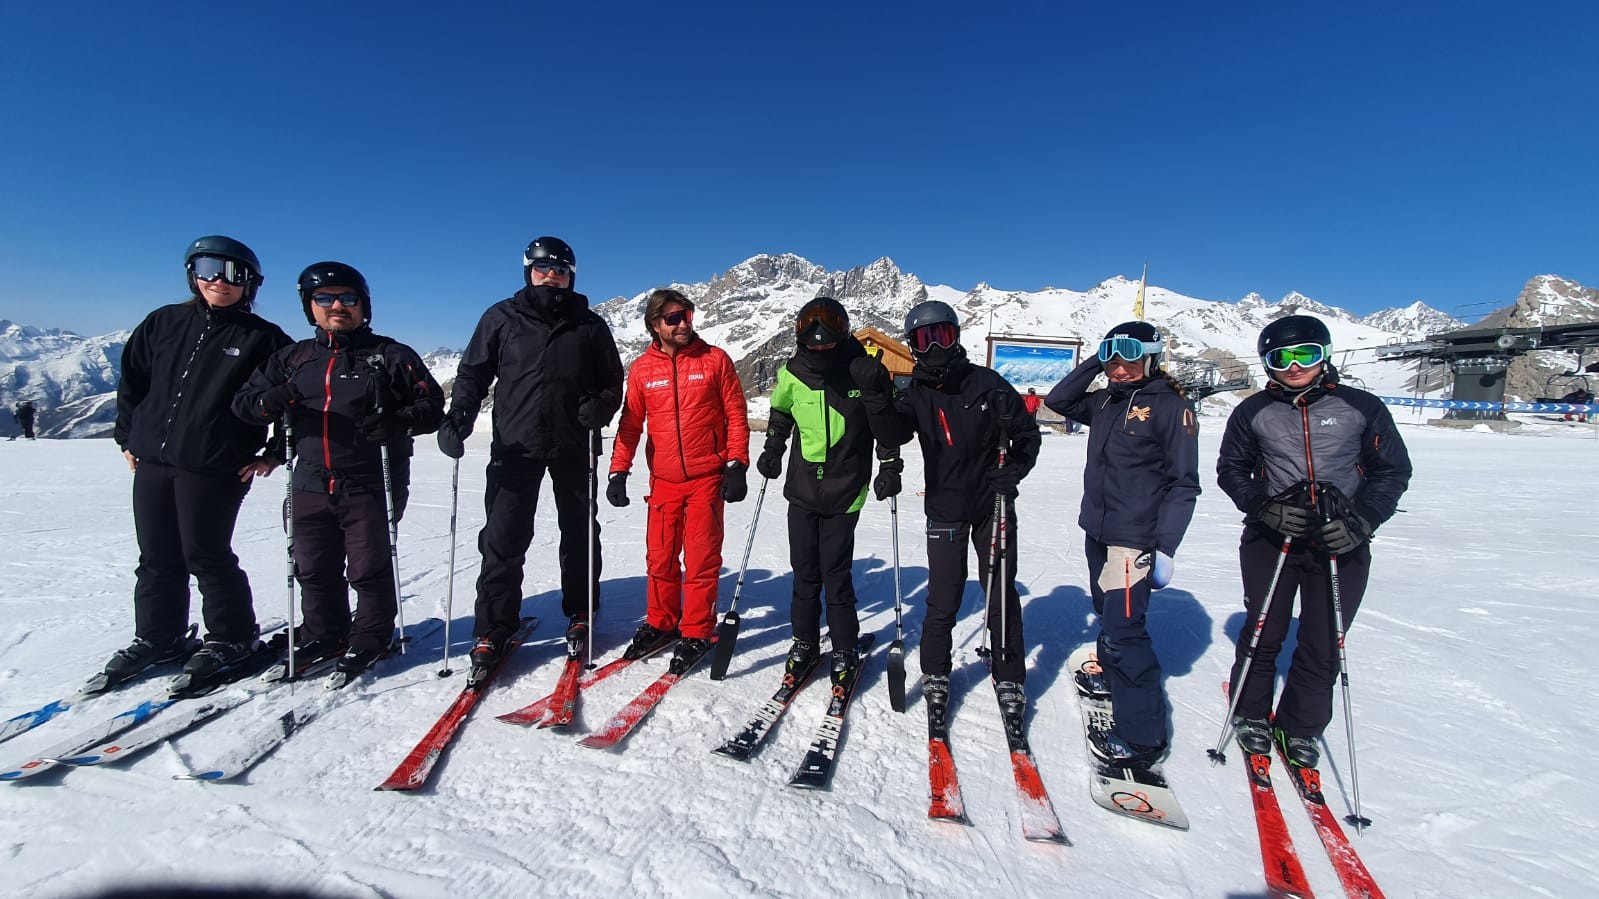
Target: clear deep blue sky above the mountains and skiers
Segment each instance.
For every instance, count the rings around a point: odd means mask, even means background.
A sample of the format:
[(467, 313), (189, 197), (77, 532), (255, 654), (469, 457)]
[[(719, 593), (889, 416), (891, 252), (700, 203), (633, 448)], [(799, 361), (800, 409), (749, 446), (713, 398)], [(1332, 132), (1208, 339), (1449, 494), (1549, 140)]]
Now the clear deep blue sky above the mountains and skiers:
[(1599, 285), (1593, 3), (144, 6), (0, 6), (3, 318), (130, 328), (213, 232), (291, 333), (331, 258), (424, 350), (540, 234), (595, 302), (784, 251), (1354, 312)]

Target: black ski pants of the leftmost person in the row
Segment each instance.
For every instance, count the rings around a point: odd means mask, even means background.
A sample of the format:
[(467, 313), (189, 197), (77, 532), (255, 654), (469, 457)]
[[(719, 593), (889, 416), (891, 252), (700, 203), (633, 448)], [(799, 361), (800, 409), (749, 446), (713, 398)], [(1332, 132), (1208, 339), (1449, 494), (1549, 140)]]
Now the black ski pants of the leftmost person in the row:
[(233, 555), (233, 525), (249, 493), (237, 473), (198, 473), (139, 462), (133, 473), (134, 633), (166, 643), (189, 627), (189, 576), (200, 585), (206, 640), (256, 637), (249, 579)]

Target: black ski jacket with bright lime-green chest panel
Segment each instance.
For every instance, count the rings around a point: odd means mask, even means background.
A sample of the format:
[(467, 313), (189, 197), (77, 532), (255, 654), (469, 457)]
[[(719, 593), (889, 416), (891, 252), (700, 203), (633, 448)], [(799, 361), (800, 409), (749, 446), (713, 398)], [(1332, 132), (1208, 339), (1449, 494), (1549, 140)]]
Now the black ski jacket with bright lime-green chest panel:
[(894, 421), (886, 410), (870, 411), (849, 376), (849, 363), (867, 355), (855, 338), (831, 350), (796, 349), (777, 370), (764, 450), (785, 451), (792, 442), (784, 497), (811, 512), (839, 515), (867, 502), (873, 445), (878, 456), (894, 456)]

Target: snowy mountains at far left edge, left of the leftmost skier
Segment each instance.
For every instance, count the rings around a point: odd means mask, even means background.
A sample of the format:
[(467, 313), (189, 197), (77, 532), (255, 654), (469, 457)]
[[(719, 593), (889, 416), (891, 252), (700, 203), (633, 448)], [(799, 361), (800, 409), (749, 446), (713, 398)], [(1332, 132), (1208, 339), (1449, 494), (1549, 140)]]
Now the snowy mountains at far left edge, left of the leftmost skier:
[[(0, 406), (34, 400), (40, 437), (104, 437), (117, 418), (117, 378), (128, 331), (83, 338), (0, 318)], [(18, 434), (10, 414), (0, 432)]]

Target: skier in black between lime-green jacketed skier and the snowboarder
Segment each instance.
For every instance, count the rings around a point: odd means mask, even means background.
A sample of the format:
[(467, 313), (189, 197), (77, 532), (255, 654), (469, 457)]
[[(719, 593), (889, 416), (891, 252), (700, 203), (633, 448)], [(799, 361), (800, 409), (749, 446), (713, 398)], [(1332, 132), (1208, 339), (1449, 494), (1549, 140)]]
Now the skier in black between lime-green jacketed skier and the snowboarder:
[[(927, 617), (921, 632), (923, 697), (929, 717), (942, 720), (950, 701), (955, 619), (966, 592), (967, 544), (977, 550), (977, 579), (990, 593), (988, 632), (993, 637), (995, 691), (1007, 715), (1025, 712), (1027, 643), (1022, 637), (1022, 598), (1015, 590), (1017, 485), (1033, 470), (1041, 445), (1038, 422), (1022, 397), (991, 368), (974, 365), (961, 346), (959, 318), (945, 302), (927, 301), (905, 317), (905, 342), (916, 366), (910, 386), (894, 392), (887, 371), (871, 362), (851, 365), (868, 408), (894, 410), (905, 443), (919, 437), (927, 480)], [(870, 365), (868, 365), (870, 363)], [(1001, 448), (1004, 464), (1001, 465)], [(902, 464), (884, 465), (878, 499), (900, 491)], [(1003, 496), (1003, 505), (996, 497)], [(995, 593), (990, 571), (999, 534), (995, 510), (1004, 517), (1004, 582)]]

